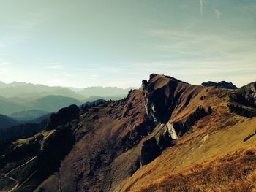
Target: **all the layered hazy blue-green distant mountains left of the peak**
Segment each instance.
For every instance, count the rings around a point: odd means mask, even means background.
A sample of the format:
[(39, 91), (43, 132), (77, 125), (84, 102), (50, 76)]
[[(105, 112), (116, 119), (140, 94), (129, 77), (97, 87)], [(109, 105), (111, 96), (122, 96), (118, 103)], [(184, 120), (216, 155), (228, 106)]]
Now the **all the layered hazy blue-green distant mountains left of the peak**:
[(133, 88), (63, 88), (26, 82), (0, 82), (0, 114), (19, 122), (44, 117), (70, 104), (81, 105), (98, 99), (118, 100)]

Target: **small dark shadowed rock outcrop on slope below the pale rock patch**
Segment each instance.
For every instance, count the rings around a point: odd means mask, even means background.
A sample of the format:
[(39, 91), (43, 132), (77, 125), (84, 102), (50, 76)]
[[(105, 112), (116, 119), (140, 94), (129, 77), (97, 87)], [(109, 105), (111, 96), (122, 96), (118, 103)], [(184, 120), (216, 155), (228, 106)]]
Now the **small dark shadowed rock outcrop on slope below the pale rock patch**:
[(161, 150), (157, 145), (157, 140), (154, 137), (143, 142), (140, 151), (140, 166), (149, 164), (161, 154)]

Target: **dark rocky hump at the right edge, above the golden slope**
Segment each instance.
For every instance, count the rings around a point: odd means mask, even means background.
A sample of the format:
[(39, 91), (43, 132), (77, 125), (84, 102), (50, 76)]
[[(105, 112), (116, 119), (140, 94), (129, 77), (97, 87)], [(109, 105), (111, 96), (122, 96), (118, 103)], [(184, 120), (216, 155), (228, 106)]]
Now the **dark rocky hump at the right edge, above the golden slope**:
[(230, 98), (240, 104), (256, 107), (256, 82), (239, 88), (237, 93), (230, 95)]

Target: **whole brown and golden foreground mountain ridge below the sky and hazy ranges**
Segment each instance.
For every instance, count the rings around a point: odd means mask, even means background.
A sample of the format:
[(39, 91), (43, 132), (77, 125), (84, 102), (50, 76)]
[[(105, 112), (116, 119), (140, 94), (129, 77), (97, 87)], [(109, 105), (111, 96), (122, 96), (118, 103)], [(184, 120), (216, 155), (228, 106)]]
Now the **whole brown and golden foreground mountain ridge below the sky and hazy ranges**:
[(255, 83), (151, 74), (124, 99), (65, 107), (1, 140), (0, 191), (256, 190)]

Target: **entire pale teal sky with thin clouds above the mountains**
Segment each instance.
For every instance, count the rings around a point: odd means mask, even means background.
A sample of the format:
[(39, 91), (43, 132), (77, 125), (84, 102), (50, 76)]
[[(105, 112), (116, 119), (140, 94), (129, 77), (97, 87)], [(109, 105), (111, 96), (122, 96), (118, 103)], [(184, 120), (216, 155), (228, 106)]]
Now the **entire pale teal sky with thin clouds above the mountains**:
[(256, 81), (255, 0), (0, 0), (0, 81)]

